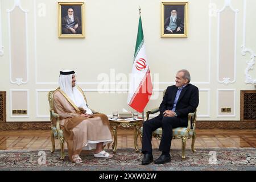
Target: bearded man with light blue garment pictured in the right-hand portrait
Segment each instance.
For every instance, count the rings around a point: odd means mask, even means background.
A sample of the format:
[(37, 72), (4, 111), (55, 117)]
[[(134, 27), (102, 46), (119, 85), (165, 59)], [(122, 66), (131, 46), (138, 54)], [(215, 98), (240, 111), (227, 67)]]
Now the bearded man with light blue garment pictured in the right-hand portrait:
[(164, 34), (184, 34), (184, 21), (177, 17), (176, 9), (171, 9), (171, 16), (164, 20)]

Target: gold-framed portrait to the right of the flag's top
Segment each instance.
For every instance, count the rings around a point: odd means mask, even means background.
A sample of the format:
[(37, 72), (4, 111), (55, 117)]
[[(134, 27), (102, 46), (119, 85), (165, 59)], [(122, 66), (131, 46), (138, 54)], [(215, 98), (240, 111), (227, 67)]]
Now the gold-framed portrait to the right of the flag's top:
[(162, 2), (161, 37), (187, 38), (188, 2)]

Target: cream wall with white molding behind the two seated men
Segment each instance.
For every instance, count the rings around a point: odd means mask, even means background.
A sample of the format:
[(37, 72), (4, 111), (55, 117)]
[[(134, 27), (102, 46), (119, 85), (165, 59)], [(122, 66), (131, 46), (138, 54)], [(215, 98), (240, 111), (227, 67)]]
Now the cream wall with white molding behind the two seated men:
[[(3, 56), (0, 56), (0, 74), (3, 78), (0, 81), (0, 90), (7, 91), (7, 121), (49, 121), (46, 94), (48, 90), (57, 87), (61, 69), (76, 71), (77, 81), (85, 90), (88, 104), (93, 109), (107, 115), (111, 115), (112, 110), (132, 110), (126, 104), (128, 84), (124, 86), (107, 84), (103, 90), (106, 93), (99, 93), (97, 90), (102, 89), (98, 85), (102, 81), (127, 82), (127, 80), (118, 80), (118, 76), (122, 74), (128, 76), (131, 72), (138, 31), (139, 6), (142, 9), (143, 32), (150, 72), (159, 74), (152, 75), (155, 99), (148, 103), (145, 110), (159, 106), (163, 90), (168, 85), (174, 84), (176, 72), (182, 68), (191, 72), (192, 84), (200, 89), (199, 120), (239, 120), (240, 90), (255, 89), (254, 84), (245, 82), (246, 61), (250, 60), (251, 55), (250, 53), (246, 53), (245, 56), (241, 54), (243, 44), (245, 48), (250, 48), (256, 53), (256, 24), (254, 23), (256, 1), (254, 0), (230, 1), (233, 9), (238, 9), (239, 12), (237, 13), (237, 36), (234, 38), (237, 41), (236, 70), (229, 71), (235, 73), (236, 80), (227, 85), (218, 82), (216, 10), (221, 10), (225, 2), (229, 1), (187, 1), (189, 3), (188, 38), (160, 38), (161, 1), (84, 1), (85, 39), (58, 38), (58, 1), (20, 0), (18, 2), (24, 10), (28, 10), (28, 82), (22, 85), (10, 82), (10, 44), (6, 10), (14, 7), (14, 0), (0, 0), (2, 27), (0, 30), (2, 45), (0, 46), (4, 46)], [(246, 36), (244, 41), (243, 7), (245, 2)], [(225, 47), (222, 48), (222, 52), (225, 52)], [(24, 64), (16, 63), (16, 67), (24, 67)], [(102, 73), (108, 75), (109, 78), (117, 77), (117, 80), (102, 80), (100, 79)], [(249, 71), (249, 74), (254, 80), (256, 79), (255, 68)], [(225, 72), (222, 71), (220, 75), (225, 75)], [(155, 82), (160, 82), (160, 84), (157, 85)], [(115, 88), (121, 90), (121, 93), (110, 92)], [(10, 105), (11, 102), (14, 103), (10, 100), (12, 89), (29, 90), (28, 118), (11, 118)], [(230, 92), (235, 93), (236, 104), (235, 108), (232, 108), (232, 111), (235, 110), (234, 116), (222, 117), (218, 113), (221, 106), (227, 104), (233, 106), (234, 103), (233, 97), (225, 97), (226, 92), (220, 92), (223, 89), (231, 89), (234, 92)], [(20, 98), (15, 102), (24, 101)]]

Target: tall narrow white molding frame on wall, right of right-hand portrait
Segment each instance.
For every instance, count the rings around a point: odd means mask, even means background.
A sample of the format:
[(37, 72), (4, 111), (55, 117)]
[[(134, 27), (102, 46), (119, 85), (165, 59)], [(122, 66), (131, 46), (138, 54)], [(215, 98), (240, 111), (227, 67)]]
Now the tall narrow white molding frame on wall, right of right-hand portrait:
[[(226, 9), (226, 7), (229, 7), (232, 11), (235, 13), (235, 30), (234, 30), (234, 79), (231, 81), (229, 77), (224, 77), (221, 81), (219, 79), (220, 77), (220, 14), (222, 11)], [(239, 10), (234, 9), (231, 5), (231, 0), (225, 0), (224, 7), (222, 7), (221, 10), (217, 10), (217, 16), (218, 16), (218, 23), (217, 23), (217, 81), (221, 84), (233, 84), (236, 81), (236, 47), (237, 47), (237, 14)]]

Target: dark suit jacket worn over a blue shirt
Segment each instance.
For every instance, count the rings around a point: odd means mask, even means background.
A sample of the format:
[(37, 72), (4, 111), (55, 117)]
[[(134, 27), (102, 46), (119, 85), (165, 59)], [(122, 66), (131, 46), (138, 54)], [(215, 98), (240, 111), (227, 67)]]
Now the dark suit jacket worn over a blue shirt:
[[(166, 93), (164, 94), (163, 101), (160, 104), (159, 117), (163, 117), (165, 110), (172, 110), (174, 106), (174, 100), (177, 93), (177, 87), (175, 85), (168, 86)], [(180, 97), (176, 104), (175, 113), (180, 118), (182, 123), (187, 123), (188, 113), (193, 113), (196, 107), (199, 105), (199, 90), (195, 85), (188, 84), (185, 86), (180, 93)]]

